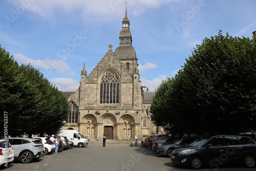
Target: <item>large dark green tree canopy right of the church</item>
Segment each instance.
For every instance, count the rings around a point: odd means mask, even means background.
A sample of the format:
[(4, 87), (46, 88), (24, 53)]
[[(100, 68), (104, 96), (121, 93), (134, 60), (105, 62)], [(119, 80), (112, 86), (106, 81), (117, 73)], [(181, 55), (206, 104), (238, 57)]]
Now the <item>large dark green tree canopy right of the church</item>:
[(170, 133), (256, 130), (256, 38), (205, 38), (174, 78), (158, 88), (152, 120)]

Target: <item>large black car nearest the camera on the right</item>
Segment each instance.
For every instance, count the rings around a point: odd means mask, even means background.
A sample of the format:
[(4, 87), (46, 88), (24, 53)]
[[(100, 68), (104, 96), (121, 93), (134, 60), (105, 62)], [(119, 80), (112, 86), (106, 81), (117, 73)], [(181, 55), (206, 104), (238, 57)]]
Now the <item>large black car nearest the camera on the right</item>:
[(255, 167), (256, 143), (251, 137), (219, 135), (200, 137), (172, 152), (172, 162), (201, 168), (204, 164), (219, 167), (221, 164), (243, 163)]

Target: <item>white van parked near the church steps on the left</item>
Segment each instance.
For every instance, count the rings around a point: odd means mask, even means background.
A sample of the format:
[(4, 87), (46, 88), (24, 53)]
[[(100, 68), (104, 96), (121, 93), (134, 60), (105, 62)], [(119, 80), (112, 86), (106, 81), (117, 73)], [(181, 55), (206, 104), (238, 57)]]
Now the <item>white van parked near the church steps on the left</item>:
[(88, 145), (88, 140), (76, 130), (59, 130), (58, 135), (67, 137), (74, 145), (83, 147)]

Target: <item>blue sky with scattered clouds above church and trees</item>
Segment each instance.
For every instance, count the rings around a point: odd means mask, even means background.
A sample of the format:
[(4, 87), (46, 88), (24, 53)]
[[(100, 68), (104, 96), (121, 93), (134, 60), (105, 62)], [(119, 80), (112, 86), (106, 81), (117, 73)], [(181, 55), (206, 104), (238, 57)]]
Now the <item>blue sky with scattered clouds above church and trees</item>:
[[(126, 4), (127, 3), (127, 4)], [(141, 85), (174, 77), (205, 37), (252, 37), (255, 0), (1, 0), (0, 45), (60, 91), (76, 91), (113, 45), (127, 5)], [(146, 89), (143, 89), (146, 91)]]

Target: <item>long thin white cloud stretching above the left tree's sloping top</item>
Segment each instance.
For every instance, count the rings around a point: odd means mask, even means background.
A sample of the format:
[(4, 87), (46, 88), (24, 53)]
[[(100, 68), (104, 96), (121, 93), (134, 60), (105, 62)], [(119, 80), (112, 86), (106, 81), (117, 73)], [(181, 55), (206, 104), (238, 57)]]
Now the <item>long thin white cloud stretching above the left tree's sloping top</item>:
[(35, 68), (41, 68), (41, 72), (44, 75), (66, 73), (68, 76), (75, 76), (75, 72), (68, 66), (68, 63), (60, 59), (34, 60), (20, 53), (14, 54), (14, 59), (20, 63), (25, 63), (26, 65), (30, 63)]

